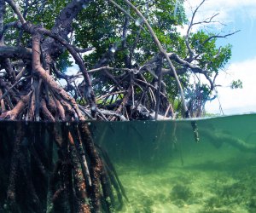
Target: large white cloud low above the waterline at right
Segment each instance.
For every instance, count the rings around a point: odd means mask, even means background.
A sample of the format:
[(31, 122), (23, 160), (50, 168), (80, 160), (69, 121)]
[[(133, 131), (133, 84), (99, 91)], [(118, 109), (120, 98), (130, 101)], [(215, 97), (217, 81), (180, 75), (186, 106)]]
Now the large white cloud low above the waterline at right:
[[(241, 79), (243, 89), (230, 89), (232, 80)], [(256, 57), (239, 63), (230, 64), (227, 73), (217, 79), (218, 97), (224, 114), (256, 112)], [(208, 102), (207, 112), (219, 113), (218, 100)]]

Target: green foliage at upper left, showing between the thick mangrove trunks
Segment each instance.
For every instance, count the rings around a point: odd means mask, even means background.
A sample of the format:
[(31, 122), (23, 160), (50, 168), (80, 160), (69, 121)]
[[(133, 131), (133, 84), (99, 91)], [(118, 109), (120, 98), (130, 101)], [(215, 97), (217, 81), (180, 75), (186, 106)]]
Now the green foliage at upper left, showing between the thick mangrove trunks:
[[(42, 25), (49, 30), (55, 25), (55, 19), (58, 14), (60, 14), (61, 9), (69, 2), (70, 0), (15, 1), (27, 21), (35, 25)], [(17, 20), (13, 13), (13, 10), (7, 6), (4, 23)], [(21, 45), (27, 48), (32, 47), (31, 35), (26, 34), (26, 32), (16, 31), (15, 28), (11, 27), (8, 29), (8, 32), (5, 33), (4, 42), (7, 45)], [(72, 66), (67, 52), (63, 53), (57, 60), (57, 66), (64, 72), (67, 70), (68, 66)]]

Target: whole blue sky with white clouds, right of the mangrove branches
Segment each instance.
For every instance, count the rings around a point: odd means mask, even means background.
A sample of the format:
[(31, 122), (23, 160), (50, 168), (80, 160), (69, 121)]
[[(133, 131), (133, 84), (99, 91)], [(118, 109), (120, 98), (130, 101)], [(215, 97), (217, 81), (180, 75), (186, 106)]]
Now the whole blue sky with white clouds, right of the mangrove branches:
[[(191, 15), (201, 0), (186, 0), (186, 13)], [(218, 76), (218, 99), (208, 102), (207, 112), (219, 113), (219, 106), (224, 114), (256, 112), (256, 0), (207, 0), (196, 16), (203, 20), (214, 13), (219, 13), (216, 20), (224, 25), (214, 24), (210, 31), (235, 35), (218, 40), (219, 45), (230, 43), (232, 58), (222, 74)], [(194, 29), (196, 31), (198, 29)], [(230, 89), (232, 79), (241, 79), (243, 89)], [(220, 104), (219, 104), (220, 103)]]

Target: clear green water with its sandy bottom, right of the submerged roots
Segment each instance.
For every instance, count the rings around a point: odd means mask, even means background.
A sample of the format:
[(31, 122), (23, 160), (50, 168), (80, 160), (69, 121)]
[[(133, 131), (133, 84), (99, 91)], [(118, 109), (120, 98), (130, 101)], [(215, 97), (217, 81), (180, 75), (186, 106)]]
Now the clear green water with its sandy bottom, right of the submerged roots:
[(121, 212), (256, 212), (256, 114), (93, 122), (129, 202)]

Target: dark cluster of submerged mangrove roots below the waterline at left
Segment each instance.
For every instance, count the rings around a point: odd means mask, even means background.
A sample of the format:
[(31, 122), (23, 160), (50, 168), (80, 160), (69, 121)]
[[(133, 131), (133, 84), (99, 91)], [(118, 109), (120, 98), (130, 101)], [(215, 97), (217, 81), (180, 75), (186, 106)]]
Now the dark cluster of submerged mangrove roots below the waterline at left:
[[(0, 168), (6, 173), (0, 182), (3, 212), (110, 213), (122, 208), (125, 190), (88, 124), (0, 127), (8, 130), (0, 135)], [(10, 162), (2, 165), (3, 158)]]

